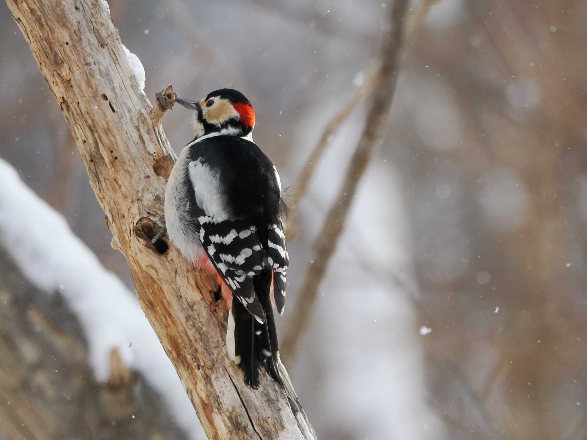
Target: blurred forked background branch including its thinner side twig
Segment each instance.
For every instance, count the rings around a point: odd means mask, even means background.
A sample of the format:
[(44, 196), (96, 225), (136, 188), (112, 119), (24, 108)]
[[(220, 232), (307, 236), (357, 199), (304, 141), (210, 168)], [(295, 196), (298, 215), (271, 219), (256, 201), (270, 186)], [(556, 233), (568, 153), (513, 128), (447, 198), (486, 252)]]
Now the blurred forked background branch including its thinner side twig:
[(308, 182), (312, 177), (315, 164), (321, 157), (329, 136), (332, 136), (332, 133), (340, 127), (355, 106), (362, 102), (363, 96), (372, 94), (373, 102), (366, 116), (365, 129), (350, 160), (338, 197), (332, 208), (330, 208), (322, 226), (322, 231), (313, 245), (313, 263), (309, 267), (308, 273), (306, 273), (301, 293), (295, 303), (294, 310), (292, 310), (289, 326), (285, 332), (282, 347), (285, 353), (288, 353), (286, 363), (289, 365), (295, 364), (297, 353), (302, 344), (303, 334), (306, 333), (308, 321), (313, 314), (313, 306), (318, 295), (319, 286), (328, 269), (330, 259), (336, 250), (336, 245), (343, 231), (359, 182), (376, 151), (377, 144), (385, 136), (387, 124), (389, 123), (389, 110), (392, 106), (397, 82), (400, 50), (404, 39), (403, 33), (406, 32), (407, 38), (413, 38), (415, 29), (423, 21), (423, 17), (431, 4), (431, 1), (423, 0), (413, 15), (410, 27), (407, 31), (404, 31), (403, 23), (406, 19), (407, 2), (402, 0), (393, 2), (390, 31), (384, 35), (381, 46), (381, 66), (375, 72), (369, 73), (363, 89), (357, 91), (353, 99), (326, 126), (318, 145), (316, 145), (305, 167), (302, 169), (298, 180), (299, 187), (296, 188), (294, 197), (292, 197), (293, 208), (290, 216), (290, 222), (294, 224), (292, 236), (296, 233), (296, 207), (299, 204), (299, 199), (307, 191)]

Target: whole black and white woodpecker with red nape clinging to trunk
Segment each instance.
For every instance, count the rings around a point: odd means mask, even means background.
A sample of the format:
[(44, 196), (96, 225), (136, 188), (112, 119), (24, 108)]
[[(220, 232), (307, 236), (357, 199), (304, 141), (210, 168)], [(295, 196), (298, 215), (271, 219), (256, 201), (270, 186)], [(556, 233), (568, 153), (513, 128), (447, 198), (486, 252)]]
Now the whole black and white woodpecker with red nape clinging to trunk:
[(275, 165), (255, 145), (255, 112), (237, 90), (201, 101), (177, 99), (193, 113), (185, 145), (165, 192), (174, 245), (195, 266), (215, 273), (227, 300), (226, 345), (245, 381), (259, 385), (264, 367), (281, 383), (270, 291), (283, 314), (288, 252), (286, 204)]

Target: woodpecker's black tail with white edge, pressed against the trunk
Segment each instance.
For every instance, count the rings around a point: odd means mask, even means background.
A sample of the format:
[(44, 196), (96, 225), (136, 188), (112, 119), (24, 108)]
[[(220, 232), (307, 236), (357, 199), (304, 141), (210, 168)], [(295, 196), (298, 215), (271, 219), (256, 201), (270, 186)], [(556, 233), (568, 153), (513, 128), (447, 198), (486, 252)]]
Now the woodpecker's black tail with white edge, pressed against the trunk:
[(277, 383), (283, 385), (279, 374), (277, 331), (269, 300), (271, 276), (271, 270), (266, 270), (253, 279), (255, 294), (265, 309), (264, 324), (254, 319), (234, 296), (228, 315), (228, 354), (244, 371), (245, 382), (253, 388), (259, 386), (260, 367), (264, 367)]

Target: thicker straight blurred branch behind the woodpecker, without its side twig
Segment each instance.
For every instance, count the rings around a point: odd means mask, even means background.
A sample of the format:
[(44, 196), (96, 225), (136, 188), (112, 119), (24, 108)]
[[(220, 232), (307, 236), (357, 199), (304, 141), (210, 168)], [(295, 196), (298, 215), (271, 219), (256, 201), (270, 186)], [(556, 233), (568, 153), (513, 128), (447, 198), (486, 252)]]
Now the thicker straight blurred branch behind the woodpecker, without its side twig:
[(389, 110), (397, 81), (406, 5), (407, 0), (396, 0), (391, 8), (392, 28), (384, 36), (381, 49), (382, 63), (377, 70), (373, 102), (367, 114), (365, 128), (346, 171), (343, 185), (314, 243), (314, 263), (306, 273), (296, 307), (291, 314), (288, 331), (285, 333), (282, 347), (284, 353), (288, 354), (289, 360), (295, 360), (299, 350), (302, 333), (307, 329), (312, 316), (312, 306), (318, 287), (336, 249), (360, 179), (365, 174), (367, 165), (387, 130)]

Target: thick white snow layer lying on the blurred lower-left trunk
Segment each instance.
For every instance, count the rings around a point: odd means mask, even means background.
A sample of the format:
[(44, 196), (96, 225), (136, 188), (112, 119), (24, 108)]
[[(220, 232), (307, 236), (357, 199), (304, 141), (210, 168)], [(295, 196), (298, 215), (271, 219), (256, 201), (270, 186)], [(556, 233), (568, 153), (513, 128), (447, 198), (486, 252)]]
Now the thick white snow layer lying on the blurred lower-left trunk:
[[(205, 438), (171, 361), (136, 297), (100, 264), (62, 215), (31, 191), (0, 158), (0, 246), (33, 285), (59, 290), (76, 314), (99, 381), (109, 375), (109, 353), (117, 348), (163, 397), (190, 438)], [(129, 347), (130, 343), (132, 346)]]

